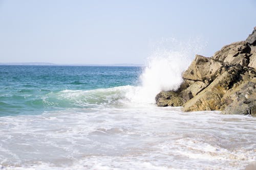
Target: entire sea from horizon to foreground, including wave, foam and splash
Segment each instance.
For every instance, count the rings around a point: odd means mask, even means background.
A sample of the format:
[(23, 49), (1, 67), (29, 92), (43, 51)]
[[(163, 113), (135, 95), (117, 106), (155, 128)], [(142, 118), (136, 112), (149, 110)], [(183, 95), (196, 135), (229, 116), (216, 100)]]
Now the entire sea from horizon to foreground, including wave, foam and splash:
[(184, 69), (174, 63), (163, 71), (164, 63), (0, 65), (0, 169), (244, 169), (255, 163), (256, 118), (156, 106), (161, 89), (182, 82)]

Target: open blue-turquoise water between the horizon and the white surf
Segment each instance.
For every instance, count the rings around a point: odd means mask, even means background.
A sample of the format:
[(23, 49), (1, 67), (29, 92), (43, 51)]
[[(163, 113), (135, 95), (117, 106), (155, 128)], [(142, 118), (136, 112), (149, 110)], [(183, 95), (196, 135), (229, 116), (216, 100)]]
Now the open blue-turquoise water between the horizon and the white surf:
[(140, 67), (0, 65), (0, 116), (81, 108), (60, 92), (137, 85), (140, 74)]

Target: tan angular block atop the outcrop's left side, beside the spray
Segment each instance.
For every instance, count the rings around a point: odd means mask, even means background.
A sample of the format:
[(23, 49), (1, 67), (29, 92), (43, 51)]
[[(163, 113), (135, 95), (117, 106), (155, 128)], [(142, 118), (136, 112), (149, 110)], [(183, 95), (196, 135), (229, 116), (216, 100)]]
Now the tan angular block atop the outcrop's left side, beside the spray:
[(183, 73), (182, 77), (194, 81), (211, 81), (216, 77), (221, 66), (222, 63), (219, 61), (196, 55), (195, 60)]

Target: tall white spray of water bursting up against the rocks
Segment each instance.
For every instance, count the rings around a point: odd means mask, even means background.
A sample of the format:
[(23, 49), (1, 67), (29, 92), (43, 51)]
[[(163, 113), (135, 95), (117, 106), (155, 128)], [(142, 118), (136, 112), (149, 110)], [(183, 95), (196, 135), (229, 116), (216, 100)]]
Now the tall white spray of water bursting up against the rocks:
[(160, 91), (177, 90), (183, 81), (182, 72), (203, 47), (200, 42), (199, 39), (181, 42), (174, 38), (158, 42), (140, 76), (141, 86), (133, 94), (128, 93), (128, 98), (137, 103), (155, 103)]

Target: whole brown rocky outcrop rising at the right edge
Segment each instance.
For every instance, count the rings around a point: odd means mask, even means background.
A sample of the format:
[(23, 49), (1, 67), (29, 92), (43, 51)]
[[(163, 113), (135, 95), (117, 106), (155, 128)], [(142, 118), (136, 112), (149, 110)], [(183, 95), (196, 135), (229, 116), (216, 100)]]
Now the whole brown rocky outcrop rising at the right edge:
[[(256, 29), (256, 28), (254, 28)], [(183, 106), (184, 111), (221, 110), (256, 116), (256, 30), (208, 58), (196, 58), (183, 73), (177, 91), (162, 91), (158, 106)]]

